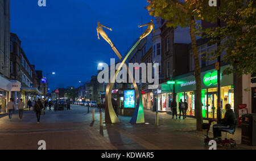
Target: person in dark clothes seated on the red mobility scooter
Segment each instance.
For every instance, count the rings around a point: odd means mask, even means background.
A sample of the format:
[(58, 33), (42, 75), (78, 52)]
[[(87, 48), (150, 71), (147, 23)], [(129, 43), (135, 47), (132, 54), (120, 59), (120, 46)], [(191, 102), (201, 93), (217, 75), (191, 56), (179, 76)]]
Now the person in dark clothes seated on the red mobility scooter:
[(221, 124), (213, 125), (213, 136), (216, 139), (221, 139), (220, 129), (234, 129), (236, 127), (236, 116), (231, 109), (230, 104), (226, 104), (226, 113), (224, 119), (221, 120)]

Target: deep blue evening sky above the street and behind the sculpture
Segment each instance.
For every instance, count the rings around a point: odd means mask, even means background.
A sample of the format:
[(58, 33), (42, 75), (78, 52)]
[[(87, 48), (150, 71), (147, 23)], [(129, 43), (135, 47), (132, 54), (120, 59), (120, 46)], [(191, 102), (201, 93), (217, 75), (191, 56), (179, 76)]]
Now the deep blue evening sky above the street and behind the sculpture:
[[(150, 22), (146, 0), (11, 0), (11, 32), (36, 70), (56, 72), (49, 78), (51, 90), (79, 86), (96, 75), (99, 62), (110, 62), (113, 51), (104, 39), (97, 39), (97, 22), (113, 28), (106, 31), (124, 54), (136, 37), (138, 25)], [(146, 28), (143, 28), (143, 30)]]

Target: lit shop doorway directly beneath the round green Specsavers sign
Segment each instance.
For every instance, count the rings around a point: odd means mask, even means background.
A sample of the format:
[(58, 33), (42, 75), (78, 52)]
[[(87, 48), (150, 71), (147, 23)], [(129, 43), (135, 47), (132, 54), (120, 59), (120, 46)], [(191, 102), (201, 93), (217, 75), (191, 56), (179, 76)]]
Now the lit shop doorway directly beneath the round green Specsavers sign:
[(217, 118), (217, 92), (208, 92), (208, 118)]

